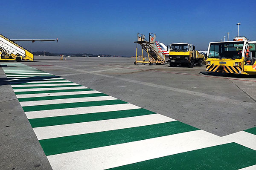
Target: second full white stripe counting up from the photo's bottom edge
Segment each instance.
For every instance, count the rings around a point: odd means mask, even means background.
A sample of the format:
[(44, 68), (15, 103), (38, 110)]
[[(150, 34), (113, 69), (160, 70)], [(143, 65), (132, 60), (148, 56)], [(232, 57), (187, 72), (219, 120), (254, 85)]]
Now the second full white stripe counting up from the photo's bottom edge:
[(108, 119), (102, 121), (81, 122), (75, 124), (62, 124), (49, 127), (33, 128), (38, 140), (48, 138), (58, 138), (70, 135), (80, 135), (86, 133), (96, 133), (108, 130), (118, 130), (131, 127), (141, 127), (152, 124), (161, 124), (175, 119), (160, 115), (142, 115), (129, 118)]

